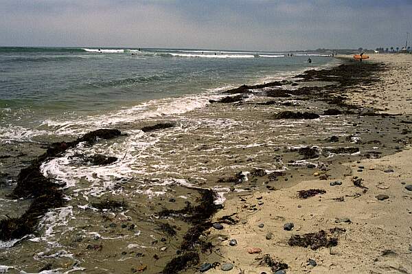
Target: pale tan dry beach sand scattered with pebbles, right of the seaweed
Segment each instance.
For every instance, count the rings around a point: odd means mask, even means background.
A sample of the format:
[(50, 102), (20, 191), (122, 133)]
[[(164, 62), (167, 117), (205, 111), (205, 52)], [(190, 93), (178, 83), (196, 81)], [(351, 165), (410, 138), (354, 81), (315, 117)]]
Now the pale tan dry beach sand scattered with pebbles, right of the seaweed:
[[(361, 93), (354, 89), (352, 103), (374, 106), (385, 113), (412, 113), (412, 55), (376, 54), (369, 62), (375, 60), (387, 63), (391, 69), (382, 73), (382, 82), (365, 87)], [(259, 265), (264, 254), (288, 264), (287, 273), (412, 273), (412, 192), (402, 184), (412, 184), (411, 150), (407, 147), (395, 155), (347, 165), (352, 172), (336, 178), (342, 185), (330, 186), (334, 180), (320, 181), (314, 177), (313, 181), (301, 181), (287, 189), (226, 201), (225, 209), (215, 218), (236, 213), (233, 218), (240, 221), (224, 225), (220, 231), (212, 230), (211, 234), (228, 238), (218, 250), (222, 262), (234, 265), (227, 273), (271, 273), (267, 266)], [(359, 165), (364, 166), (363, 172), (358, 172)], [(353, 176), (363, 179), (368, 188), (366, 193), (354, 186)], [(326, 193), (297, 198), (298, 190), (310, 188), (323, 189)], [(387, 194), (389, 198), (378, 201), (378, 194)], [(344, 201), (334, 200), (338, 197)], [(251, 209), (251, 205), (258, 210)], [(351, 222), (336, 223), (336, 218), (349, 218)], [(294, 223), (292, 231), (284, 230), (286, 222)], [(258, 227), (260, 224), (264, 227)], [(288, 245), (293, 235), (333, 227), (346, 229), (336, 247), (312, 250)], [(269, 232), (273, 236), (266, 240)], [(238, 245), (229, 246), (230, 239), (236, 239)], [(262, 253), (249, 254), (250, 247), (258, 247)], [(315, 260), (317, 266), (308, 266), (308, 259)], [(222, 272), (220, 267), (207, 271)]]

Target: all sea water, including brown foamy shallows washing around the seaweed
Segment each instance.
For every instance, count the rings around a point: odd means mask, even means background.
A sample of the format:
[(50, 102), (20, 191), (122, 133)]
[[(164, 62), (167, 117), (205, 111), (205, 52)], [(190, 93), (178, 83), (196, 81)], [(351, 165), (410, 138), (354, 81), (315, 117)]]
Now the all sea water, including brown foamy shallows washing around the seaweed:
[[(282, 52), (0, 48), (0, 156), (5, 156), (0, 159), (0, 218), (20, 216), (30, 205), (7, 194), (19, 170), (41, 155), (45, 144), (98, 128), (125, 133), (93, 146), (79, 144), (41, 165), (41, 172), (61, 185), (66, 203), (41, 218), (35, 235), (0, 241), (5, 254), (0, 272), (37, 273), (51, 264), (53, 271), (44, 273), (130, 273), (142, 265), (148, 267), (145, 273), (159, 273), (181, 243), (180, 233), (168, 237), (158, 229), (165, 222), (156, 215), (161, 209), (196, 203), (193, 187), (216, 190), (215, 203), (223, 203), (230, 185), (218, 178), (247, 176), (252, 168), (285, 170), (290, 159), (277, 159), (277, 151), (350, 134), (350, 117), (268, 119), (281, 109), (318, 111), (321, 103), (258, 107), (252, 103), (273, 100), (260, 91), (241, 106), (209, 102), (241, 84), (292, 79), (339, 63), (329, 56), (310, 58), (311, 64), (305, 54)], [(176, 126), (140, 130), (158, 122)], [(117, 161), (90, 165), (79, 157), (96, 154)], [(127, 208), (101, 212), (93, 207), (106, 199), (124, 201)], [(187, 229), (179, 220), (167, 222)], [(155, 264), (153, 255), (160, 257)]]

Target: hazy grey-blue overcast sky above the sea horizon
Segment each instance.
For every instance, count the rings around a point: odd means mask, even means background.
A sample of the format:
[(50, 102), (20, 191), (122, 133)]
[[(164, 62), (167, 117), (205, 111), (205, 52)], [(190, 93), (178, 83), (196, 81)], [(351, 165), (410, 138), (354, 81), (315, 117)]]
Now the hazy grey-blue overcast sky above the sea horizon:
[(0, 46), (375, 49), (407, 32), (412, 0), (0, 0)]

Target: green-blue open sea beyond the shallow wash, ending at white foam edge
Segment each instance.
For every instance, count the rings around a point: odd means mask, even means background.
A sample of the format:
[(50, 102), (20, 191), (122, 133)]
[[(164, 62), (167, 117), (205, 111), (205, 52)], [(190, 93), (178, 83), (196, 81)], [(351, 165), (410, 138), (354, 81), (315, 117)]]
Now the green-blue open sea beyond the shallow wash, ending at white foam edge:
[[(0, 48), (0, 139), (80, 134), (207, 104), (205, 94), (292, 76), (328, 56), (190, 49)], [(24, 135), (24, 136), (23, 136)]]

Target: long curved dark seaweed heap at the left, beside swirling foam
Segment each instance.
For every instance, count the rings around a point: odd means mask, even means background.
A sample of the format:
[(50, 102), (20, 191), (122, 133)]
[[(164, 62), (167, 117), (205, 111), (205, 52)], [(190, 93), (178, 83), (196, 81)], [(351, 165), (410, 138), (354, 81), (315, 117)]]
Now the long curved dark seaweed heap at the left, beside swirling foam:
[(20, 217), (0, 220), (0, 240), (21, 239), (27, 234), (34, 233), (41, 216), (49, 209), (62, 207), (64, 204), (61, 185), (54, 183), (41, 173), (42, 163), (62, 155), (67, 149), (77, 146), (80, 142), (93, 145), (98, 139), (112, 139), (119, 135), (121, 133), (116, 129), (99, 129), (75, 141), (54, 143), (43, 155), (34, 159), (27, 168), (23, 168), (10, 196), (12, 198), (33, 198), (33, 201)]

